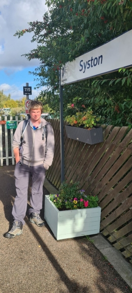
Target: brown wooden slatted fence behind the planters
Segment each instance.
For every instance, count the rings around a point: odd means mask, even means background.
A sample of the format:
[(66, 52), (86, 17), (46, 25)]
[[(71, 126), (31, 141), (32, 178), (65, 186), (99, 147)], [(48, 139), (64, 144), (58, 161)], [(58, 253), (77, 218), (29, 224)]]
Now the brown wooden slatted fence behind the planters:
[[(47, 179), (61, 184), (60, 121), (50, 120), (55, 134), (55, 156)], [(98, 195), (100, 231), (132, 263), (132, 130), (102, 126), (104, 141), (96, 145), (67, 138), (65, 178), (80, 181), (86, 194)]]

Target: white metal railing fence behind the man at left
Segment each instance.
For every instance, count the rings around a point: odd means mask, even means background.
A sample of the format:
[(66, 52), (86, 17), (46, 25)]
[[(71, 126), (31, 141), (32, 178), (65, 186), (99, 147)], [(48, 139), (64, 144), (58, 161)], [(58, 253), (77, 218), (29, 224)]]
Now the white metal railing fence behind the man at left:
[[(2, 119), (4, 117), (4, 119)], [(26, 117), (27, 119), (27, 117)], [(7, 116), (0, 116), (0, 121), (7, 121)], [(21, 115), (21, 120), (18, 120), (18, 116), (15, 116), (15, 120), (12, 120), (12, 116), (10, 116), (10, 121), (17, 121), (17, 125), (19, 122), (23, 121), (23, 116)], [(2, 139), (2, 134), (4, 133), (4, 139)], [(10, 135), (10, 137), (9, 137)], [(11, 156), (9, 156), (8, 151), (8, 141), (10, 141), (10, 148), (11, 148)], [(12, 161), (12, 165), (15, 164), (14, 160), (14, 153), (12, 149), (12, 141), (13, 141), (13, 129), (7, 131), (6, 124), (0, 124), (0, 166), (3, 166), (3, 160), (6, 160), (6, 165), (9, 165), (9, 159)], [(3, 143), (5, 144), (5, 157), (3, 157)]]

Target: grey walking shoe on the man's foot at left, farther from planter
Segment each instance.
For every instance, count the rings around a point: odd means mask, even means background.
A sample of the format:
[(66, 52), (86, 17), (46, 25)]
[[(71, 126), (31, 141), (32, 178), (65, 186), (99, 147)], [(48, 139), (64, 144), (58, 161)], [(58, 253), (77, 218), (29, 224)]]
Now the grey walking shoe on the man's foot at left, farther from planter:
[(5, 234), (6, 238), (14, 238), (15, 236), (19, 236), (23, 233), (23, 224), (19, 221), (14, 221), (13, 226), (9, 232)]

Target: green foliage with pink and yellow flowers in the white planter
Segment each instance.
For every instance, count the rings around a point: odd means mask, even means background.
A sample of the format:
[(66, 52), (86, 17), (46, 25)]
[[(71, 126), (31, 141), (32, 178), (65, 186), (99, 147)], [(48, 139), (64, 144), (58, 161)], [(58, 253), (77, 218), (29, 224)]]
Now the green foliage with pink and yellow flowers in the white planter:
[(74, 210), (98, 206), (98, 196), (85, 195), (84, 190), (79, 190), (79, 182), (64, 181), (58, 195), (50, 195), (50, 200), (59, 210)]

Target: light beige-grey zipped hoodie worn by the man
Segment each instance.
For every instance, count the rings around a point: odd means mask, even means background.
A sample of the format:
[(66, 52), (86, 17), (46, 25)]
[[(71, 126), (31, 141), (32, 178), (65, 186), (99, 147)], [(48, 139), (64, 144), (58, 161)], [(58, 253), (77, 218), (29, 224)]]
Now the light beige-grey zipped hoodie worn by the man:
[[(47, 127), (47, 145), (46, 139), (42, 140), (43, 126)], [(22, 135), (23, 121), (18, 124), (18, 127), (13, 136), (12, 147), (20, 147)], [(22, 155), (20, 154), (20, 161), (29, 166), (37, 166), (43, 163), (44, 168), (47, 170), (52, 164), (54, 157), (54, 132), (51, 124), (45, 119), (41, 118), (41, 128), (33, 130), (30, 126), (30, 119), (27, 128), (23, 135), (24, 143), (22, 144)], [(45, 154), (46, 146), (46, 154)]]

